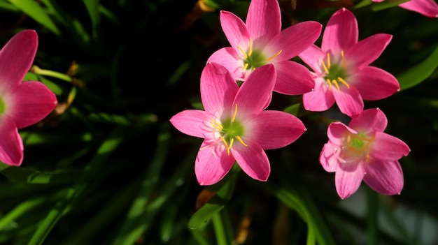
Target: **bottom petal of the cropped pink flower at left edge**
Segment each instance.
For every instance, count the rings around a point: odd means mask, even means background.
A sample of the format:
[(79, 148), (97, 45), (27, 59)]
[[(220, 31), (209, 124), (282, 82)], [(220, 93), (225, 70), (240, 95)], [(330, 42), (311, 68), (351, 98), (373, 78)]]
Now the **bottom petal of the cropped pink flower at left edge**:
[(23, 143), (12, 119), (2, 115), (0, 119), (0, 161), (20, 166), (23, 161)]

